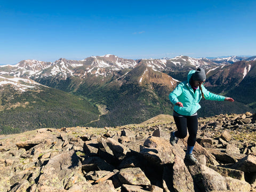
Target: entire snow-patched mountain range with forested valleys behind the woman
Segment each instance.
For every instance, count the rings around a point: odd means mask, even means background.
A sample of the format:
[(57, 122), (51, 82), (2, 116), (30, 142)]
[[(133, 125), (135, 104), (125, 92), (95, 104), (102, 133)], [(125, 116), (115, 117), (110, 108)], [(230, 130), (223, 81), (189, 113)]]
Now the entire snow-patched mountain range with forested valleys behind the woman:
[[(235, 105), (202, 101), (199, 116), (254, 111), (255, 60), (256, 57), (220, 60), (182, 55), (131, 60), (107, 54), (83, 60), (23, 60), (17, 65), (0, 66), (0, 129), (20, 129), (20, 122), (31, 119), (34, 123), (27, 123), (22, 131), (78, 124), (117, 126), (172, 114), (169, 93), (187, 78), (189, 70), (198, 67), (206, 70), (207, 89), (237, 101)], [(45, 115), (48, 111), (52, 114)]]

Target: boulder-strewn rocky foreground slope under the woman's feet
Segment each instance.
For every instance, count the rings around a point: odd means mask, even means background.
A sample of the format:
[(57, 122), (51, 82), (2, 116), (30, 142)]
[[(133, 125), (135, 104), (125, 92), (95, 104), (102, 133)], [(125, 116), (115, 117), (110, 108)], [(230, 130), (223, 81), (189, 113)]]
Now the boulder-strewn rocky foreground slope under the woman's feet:
[(156, 119), (1, 135), (0, 191), (256, 191), (256, 114), (199, 118), (196, 165)]

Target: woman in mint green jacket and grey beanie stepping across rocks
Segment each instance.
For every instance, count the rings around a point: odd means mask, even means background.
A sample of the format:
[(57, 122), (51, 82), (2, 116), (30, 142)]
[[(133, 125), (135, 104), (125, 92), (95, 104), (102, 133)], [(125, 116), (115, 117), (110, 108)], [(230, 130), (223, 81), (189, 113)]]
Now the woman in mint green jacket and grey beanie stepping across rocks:
[(188, 129), (189, 137), (185, 158), (191, 163), (197, 163), (197, 159), (193, 156), (192, 151), (196, 143), (198, 128), (197, 110), (201, 108), (199, 101), (205, 98), (207, 100), (234, 102), (232, 98), (207, 91), (203, 86), (205, 79), (206, 75), (203, 68), (190, 70), (187, 81), (181, 82), (175, 87), (173, 92), (169, 94), (171, 102), (175, 105), (173, 118), (178, 130), (171, 133), (170, 142), (174, 145), (178, 142), (179, 138), (185, 138)]

